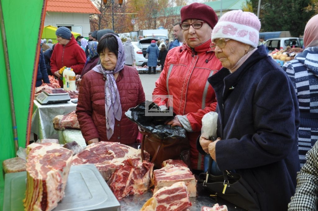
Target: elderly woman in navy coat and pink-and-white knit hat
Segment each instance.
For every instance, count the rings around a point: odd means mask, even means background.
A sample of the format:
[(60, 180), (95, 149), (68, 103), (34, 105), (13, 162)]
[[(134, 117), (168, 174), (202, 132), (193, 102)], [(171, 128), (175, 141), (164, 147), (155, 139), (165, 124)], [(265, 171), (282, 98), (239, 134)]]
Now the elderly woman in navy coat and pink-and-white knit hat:
[[(259, 210), (287, 210), (300, 170), (299, 108), (293, 84), (264, 45), (250, 12), (225, 13), (212, 31), (224, 68), (208, 81), (218, 100), (218, 139), (199, 147), (220, 170), (235, 170), (252, 187)], [(201, 152), (203, 152), (201, 149)]]

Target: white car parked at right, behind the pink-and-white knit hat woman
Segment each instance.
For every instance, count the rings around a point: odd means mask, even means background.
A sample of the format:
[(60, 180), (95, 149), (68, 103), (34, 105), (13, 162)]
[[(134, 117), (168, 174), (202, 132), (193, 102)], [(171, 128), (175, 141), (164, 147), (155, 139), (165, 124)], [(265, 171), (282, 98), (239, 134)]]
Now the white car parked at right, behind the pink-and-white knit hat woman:
[(285, 50), (287, 46), (301, 48), (300, 40), (298, 37), (284, 37), (284, 38), (272, 38), (266, 40), (266, 46), (268, 51)]

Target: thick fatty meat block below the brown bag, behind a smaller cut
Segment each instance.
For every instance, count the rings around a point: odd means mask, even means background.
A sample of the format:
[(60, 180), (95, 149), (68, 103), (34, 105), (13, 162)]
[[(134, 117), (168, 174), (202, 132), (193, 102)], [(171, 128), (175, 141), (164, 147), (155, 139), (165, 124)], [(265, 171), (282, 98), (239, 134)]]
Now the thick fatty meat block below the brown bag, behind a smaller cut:
[(187, 186), (190, 197), (197, 196), (197, 180), (194, 175), (181, 160), (166, 160), (161, 169), (154, 170), (153, 183), (155, 185), (154, 193), (162, 187), (168, 187), (176, 182), (183, 181)]

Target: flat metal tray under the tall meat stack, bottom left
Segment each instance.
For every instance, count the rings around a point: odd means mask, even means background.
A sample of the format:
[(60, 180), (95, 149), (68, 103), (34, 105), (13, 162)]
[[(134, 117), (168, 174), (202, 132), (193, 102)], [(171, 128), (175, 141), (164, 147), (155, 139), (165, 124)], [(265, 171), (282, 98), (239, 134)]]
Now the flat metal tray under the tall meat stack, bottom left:
[[(26, 171), (5, 174), (3, 210), (23, 211)], [(120, 204), (93, 164), (72, 166), (65, 196), (53, 211), (120, 210)]]

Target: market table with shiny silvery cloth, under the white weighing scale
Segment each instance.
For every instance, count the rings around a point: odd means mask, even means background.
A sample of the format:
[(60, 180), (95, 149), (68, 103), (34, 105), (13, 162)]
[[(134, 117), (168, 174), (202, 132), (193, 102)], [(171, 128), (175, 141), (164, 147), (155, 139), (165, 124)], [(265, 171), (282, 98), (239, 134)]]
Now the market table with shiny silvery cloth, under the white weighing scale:
[(53, 118), (57, 115), (68, 114), (75, 111), (76, 105), (77, 104), (71, 101), (67, 103), (41, 105), (37, 100), (33, 100), (31, 132), (37, 134), (38, 139), (59, 139), (58, 131), (53, 128)]

